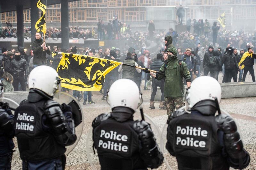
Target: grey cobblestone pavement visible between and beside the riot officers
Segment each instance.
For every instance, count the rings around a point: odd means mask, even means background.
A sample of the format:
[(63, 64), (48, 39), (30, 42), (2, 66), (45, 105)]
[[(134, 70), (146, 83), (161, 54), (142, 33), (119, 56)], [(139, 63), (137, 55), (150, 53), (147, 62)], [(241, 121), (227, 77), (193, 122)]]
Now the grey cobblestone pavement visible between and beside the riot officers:
[[(158, 101), (156, 101), (156, 109), (149, 109), (150, 91), (142, 90), (142, 93), (144, 99), (144, 102), (142, 104), (144, 108), (144, 113), (150, 116), (154, 123), (159, 127), (160, 131), (162, 131), (164, 124), (167, 121), (166, 110), (158, 108), (160, 104), (160, 102)], [(100, 94), (99, 92), (93, 92), (92, 94), (92, 100), (95, 101), (96, 104), (82, 105), (82, 100), (80, 102), (84, 111), (84, 128), (77, 146), (67, 156), (67, 170), (92, 169), (92, 167), (89, 165), (86, 155), (87, 133), (89, 132), (89, 129), (91, 127), (92, 120), (97, 115), (110, 111), (107, 102), (105, 100), (101, 100), (102, 94)], [(244, 142), (244, 148), (251, 155), (250, 165), (246, 169), (256, 169), (256, 97), (222, 99), (220, 106), (223, 109), (227, 110), (235, 118), (236, 122), (240, 126), (241, 135)], [(134, 117), (135, 119), (140, 118), (139, 110), (137, 110)], [(154, 128), (153, 130), (156, 131), (156, 129)], [(160, 143), (160, 135), (156, 135), (156, 138), (157, 142)], [(91, 152), (90, 155), (93, 155), (93, 152)], [(177, 169), (176, 159), (170, 156), (170, 154), (168, 154), (166, 150), (164, 150), (164, 156), (167, 162), (172, 166), (172, 169)], [(21, 169), (21, 161), (19, 156), (17, 156), (12, 161), (12, 169)], [(99, 167), (97, 169), (99, 169)], [(167, 169), (167, 167), (165, 163), (163, 163), (163, 165), (160, 166), (158, 169)]]

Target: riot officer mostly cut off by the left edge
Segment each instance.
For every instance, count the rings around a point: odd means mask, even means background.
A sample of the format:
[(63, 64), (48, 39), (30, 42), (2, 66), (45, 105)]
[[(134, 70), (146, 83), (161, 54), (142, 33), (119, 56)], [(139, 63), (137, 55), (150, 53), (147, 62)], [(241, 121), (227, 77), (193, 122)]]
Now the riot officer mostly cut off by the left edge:
[[(0, 80), (0, 98), (4, 95), (4, 85)], [(14, 144), (13, 115), (9, 104), (0, 102), (0, 169), (11, 169)]]

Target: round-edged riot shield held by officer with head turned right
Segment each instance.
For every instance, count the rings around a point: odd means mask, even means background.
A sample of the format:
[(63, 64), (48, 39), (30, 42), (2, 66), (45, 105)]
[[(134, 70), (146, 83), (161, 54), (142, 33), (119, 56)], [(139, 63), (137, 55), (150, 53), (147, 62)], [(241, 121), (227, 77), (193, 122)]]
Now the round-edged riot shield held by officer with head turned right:
[(67, 146), (67, 151), (65, 152), (65, 155), (68, 155), (75, 147), (76, 144), (78, 143), (82, 131), (83, 131), (83, 111), (82, 107), (80, 106), (79, 102), (74, 98), (72, 95), (66, 93), (66, 92), (57, 92), (54, 95), (53, 100), (57, 101), (58, 103), (62, 104), (65, 103), (72, 107), (72, 113), (73, 113), (73, 118), (74, 118), (74, 124), (75, 124), (75, 129), (76, 129), (76, 142), (70, 146)]

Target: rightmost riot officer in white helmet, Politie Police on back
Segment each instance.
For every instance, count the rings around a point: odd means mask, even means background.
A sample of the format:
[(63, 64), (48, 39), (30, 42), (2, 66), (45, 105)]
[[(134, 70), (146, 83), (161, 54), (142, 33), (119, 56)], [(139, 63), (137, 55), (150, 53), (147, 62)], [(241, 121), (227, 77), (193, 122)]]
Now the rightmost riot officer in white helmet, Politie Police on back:
[[(236, 122), (220, 111), (221, 87), (209, 76), (196, 78), (185, 94), (187, 109), (168, 119), (166, 149), (179, 169), (243, 169), (250, 156), (243, 148)], [(187, 111), (188, 110), (188, 111)], [(214, 116), (218, 110), (218, 115)]]

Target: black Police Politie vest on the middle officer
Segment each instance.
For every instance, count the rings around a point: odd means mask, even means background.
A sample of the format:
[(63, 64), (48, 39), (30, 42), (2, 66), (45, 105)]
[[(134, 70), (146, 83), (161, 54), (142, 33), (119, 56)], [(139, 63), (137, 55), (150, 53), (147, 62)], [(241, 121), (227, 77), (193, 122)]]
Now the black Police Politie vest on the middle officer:
[(102, 170), (147, 169), (139, 153), (139, 136), (134, 121), (117, 122), (111, 116), (93, 131)]

